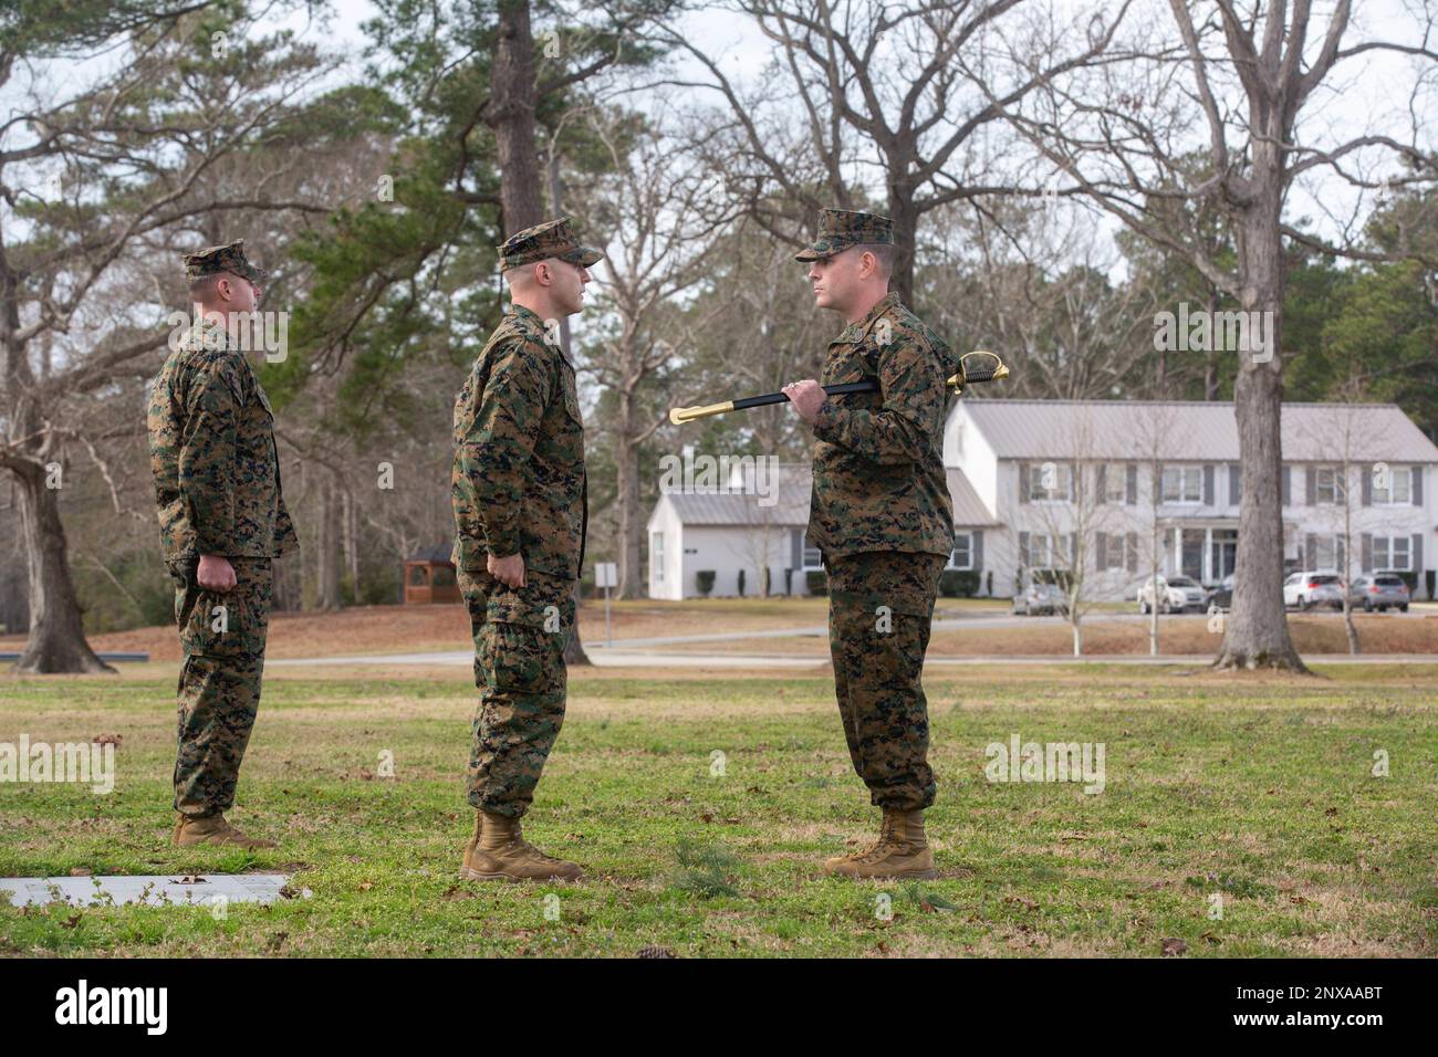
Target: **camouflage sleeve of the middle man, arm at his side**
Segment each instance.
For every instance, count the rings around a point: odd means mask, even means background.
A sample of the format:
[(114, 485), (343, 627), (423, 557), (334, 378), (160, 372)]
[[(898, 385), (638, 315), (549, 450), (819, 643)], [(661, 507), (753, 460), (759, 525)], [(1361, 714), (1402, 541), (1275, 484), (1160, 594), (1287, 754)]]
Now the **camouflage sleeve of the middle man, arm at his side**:
[(519, 552), (528, 465), (551, 393), (551, 364), (541, 349), (512, 339), (493, 351), (489, 378), (456, 446), (462, 486), (485, 531), (489, 552)]

